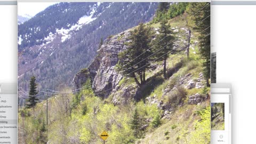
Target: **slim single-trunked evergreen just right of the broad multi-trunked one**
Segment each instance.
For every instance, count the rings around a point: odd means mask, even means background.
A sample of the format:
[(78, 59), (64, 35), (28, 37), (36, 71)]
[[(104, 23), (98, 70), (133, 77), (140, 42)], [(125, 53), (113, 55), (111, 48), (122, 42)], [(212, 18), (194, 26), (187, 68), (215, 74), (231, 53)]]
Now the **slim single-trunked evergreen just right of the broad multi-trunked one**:
[(172, 50), (174, 36), (171, 33), (171, 26), (169, 25), (167, 19), (162, 19), (160, 22), (159, 33), (155, 39), (155, 43), (153, 51), (155, 52), (155, 57), (157, 61), (164, 62), (164, 78), (167, 78), (166, 74), (166, 60), (169, 57), (169, 54), (166, 54)]

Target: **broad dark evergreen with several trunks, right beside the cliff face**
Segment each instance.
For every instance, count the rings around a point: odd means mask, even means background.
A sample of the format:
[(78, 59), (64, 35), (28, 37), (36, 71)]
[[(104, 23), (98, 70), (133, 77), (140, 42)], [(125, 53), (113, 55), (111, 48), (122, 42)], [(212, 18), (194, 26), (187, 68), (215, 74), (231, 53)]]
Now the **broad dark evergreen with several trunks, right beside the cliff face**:
[[(146, 70), (149, 68), (151, 54), (149, 43), (151, 41), (150, 28), (140, 23), (138, 28), (131, 31), (129, 49), (118, 54), (117, 70), (127, 77), (133, 77), (141, 86), (146, 82)], [(140, 77), (140, 82), (137, 79)]]

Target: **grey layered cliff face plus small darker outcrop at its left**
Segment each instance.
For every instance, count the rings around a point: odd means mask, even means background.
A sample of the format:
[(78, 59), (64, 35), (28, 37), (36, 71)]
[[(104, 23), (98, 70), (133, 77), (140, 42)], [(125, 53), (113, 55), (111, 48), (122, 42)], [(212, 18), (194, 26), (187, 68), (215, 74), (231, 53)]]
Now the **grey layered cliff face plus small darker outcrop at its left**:
[(83, 75), (78, 73), (73, 78), (73, 89), (79, 89), (82, 86), (80, 82), (86, 82), (86, 79), (90, 77), (93, 80), (92, 89), (95, 94), (100, 97), (106, 98), (110, 92), (114, 91), (119, 81), (123, 78), (123, 76), (118, 74), (115, 70), (115, 65), (118, 62), (118, 53), (127, 49), (124, 43), (128, 41), (129, 36), (130, 32), (124, 31), (107, 38), (97, 51), (97, 57), (88, 67), (90, 74)]

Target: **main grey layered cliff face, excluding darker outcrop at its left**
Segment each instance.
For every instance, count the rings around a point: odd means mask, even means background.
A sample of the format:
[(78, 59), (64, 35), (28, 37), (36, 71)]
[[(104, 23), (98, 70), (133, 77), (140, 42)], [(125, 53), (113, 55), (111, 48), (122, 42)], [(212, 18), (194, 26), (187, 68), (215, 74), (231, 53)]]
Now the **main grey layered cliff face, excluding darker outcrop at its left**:
[(100, 60), (99, 68), (93, 77), (92, 83), (92, 88), (97, 95), (107, 97), (123, 78), (121, 74), (117, 73), (115, 66), (118, 62), (118, 53), (127, 49), (124, 43), (129, 36), (130, 32), (124, 31), (107, 39), (105, 44), (100, 47), (99, 56), (97, 57)]

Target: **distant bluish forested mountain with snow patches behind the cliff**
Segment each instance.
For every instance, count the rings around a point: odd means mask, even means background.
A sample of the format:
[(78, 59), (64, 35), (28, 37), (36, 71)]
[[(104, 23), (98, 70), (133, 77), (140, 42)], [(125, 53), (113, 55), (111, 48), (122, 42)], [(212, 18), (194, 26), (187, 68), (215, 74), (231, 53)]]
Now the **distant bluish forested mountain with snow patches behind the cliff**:
[(106, 39), (153, 18), (158, 3), (59, 3), (18, 26), (18, 81), (28, 90), (71, 86), (74, 75), (94, 59)]

